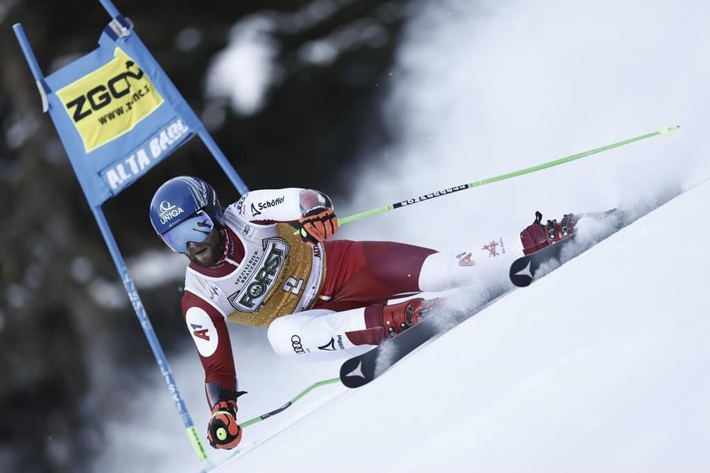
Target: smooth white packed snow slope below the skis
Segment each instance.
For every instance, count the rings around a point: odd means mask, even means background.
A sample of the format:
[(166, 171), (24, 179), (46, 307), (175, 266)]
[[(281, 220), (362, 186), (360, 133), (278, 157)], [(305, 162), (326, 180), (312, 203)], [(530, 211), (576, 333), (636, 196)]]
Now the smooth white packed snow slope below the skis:
[(224, 471), (710, 471), (709, 204), (705, 182)]

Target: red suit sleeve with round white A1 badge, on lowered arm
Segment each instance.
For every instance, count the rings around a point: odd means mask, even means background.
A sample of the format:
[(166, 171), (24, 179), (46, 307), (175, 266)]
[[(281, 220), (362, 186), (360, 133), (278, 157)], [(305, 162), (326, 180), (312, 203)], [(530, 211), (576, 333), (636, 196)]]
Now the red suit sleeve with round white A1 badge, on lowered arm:
[(182, 314), (200, 354), (205, 384), (219, 383), (222, 389), (236, 391), (234, 357), (222, 314), (190, 291), (182, 296)]

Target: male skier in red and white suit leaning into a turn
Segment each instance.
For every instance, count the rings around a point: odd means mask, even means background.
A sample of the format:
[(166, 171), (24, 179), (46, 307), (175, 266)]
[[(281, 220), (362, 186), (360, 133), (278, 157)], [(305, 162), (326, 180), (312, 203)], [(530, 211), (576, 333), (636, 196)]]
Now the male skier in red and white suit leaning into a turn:
[[(501, 253), (538, 250), (574, 229), (535, 223), (520, 243), (492, 240), (474, 256), (383, 241), (329, 240), (338, 230), (332, 201), (313, 189), (251, 191), (224, 211), (196, 177), (175, 177), (155, 192), (151, 223), (190, 259), (182, 312), (205, 372), (212, 417), (209, 444), (234, 448), (238, 391), (225, 321), (268, 326), (279, 355), (308, 360), (353, 356), (420, 321), (439, 299), (388, 299), (471, 284)], [(297, 229), (297, 235), (295, 230)]]

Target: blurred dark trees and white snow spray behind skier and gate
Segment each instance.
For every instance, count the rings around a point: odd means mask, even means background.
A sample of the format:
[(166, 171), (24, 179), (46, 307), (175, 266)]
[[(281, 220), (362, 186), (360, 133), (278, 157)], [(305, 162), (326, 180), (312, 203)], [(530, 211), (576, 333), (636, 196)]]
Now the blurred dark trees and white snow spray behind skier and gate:
[[(519, 231), (535, 210), (599, 211), (710, 175), (710, 6), (699, 2), (115, 3), (251, 189), (322, 189), (341, 216), (683, 126), (340, 238), (458, 252)], [(197, 469), (11, 30), (23, 24), (49, 74), (92, 50), (108, 19), (94, 0), (0, 0), (1, 471)], [(202, 436), (202, 367), (179, 307), (185, 258), (148, 221), (153, 191), (178, 174), (207, 179), (223, 205), (239, 198), (193, 140), (104, 211)], [(230, 333), (250, 391), (242, 420), (337, 376), (337, 363), (279, 360), (263, 329)], [(244, 446), (340, 394), (250, 427)]]

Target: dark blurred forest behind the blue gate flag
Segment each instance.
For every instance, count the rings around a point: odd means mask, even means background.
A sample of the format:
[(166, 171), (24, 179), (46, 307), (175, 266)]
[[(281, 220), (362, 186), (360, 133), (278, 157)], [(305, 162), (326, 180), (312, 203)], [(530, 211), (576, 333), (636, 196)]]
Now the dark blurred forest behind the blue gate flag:
[[(251, 189), (313, 187), (346, 199), (355, 160), (390, 140), (378, 104), (397, 79), (393, 55), (413, 2), (114, 3), (197, 115), (209, 116), (212, 136)], [(280, 77), (263, 108), (243, 115), (229, 99), (208, 98), (204, 84), (230, 28), (253, 13), (280, 18), (271, 32)], [(121, 409), (145, 376), (141, 367), (154, 364), (127, 297), (108, 308), (89, 294), (97, 281), (118, 284), (119, 277), (11, 28), (23, 24), (50, 74), (94, 49), (108, 21), (96, 0), (0, 0), (1, 471), (86, 469), (86, 459), (102, 448), (100, 411), (109, 403)], [(377, 40), (351, 41), (332, 62), (313, 64), (299, 55), (313, 40), (370, 26), (379, 28)], [(148, 221), (148, 203), (161, 182), (178, 174), (212, 182), (222, 204), (238, 198), (192, 140), (104, 205), (124, 256), (165, 251)], [(185, 341), (176, 322), (177, 286), (141, 290), (168, 357)], [(97, 394), (97, 379), (111, 379), (102, 392), (116, 395)]]

